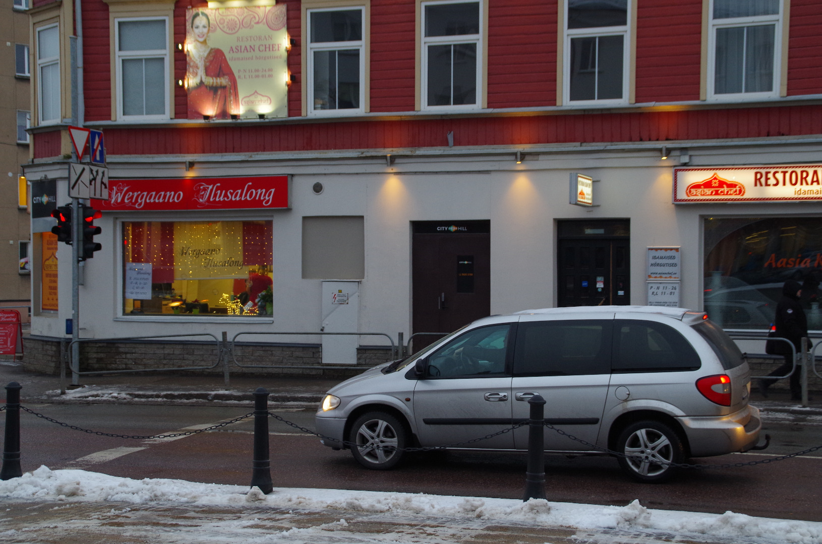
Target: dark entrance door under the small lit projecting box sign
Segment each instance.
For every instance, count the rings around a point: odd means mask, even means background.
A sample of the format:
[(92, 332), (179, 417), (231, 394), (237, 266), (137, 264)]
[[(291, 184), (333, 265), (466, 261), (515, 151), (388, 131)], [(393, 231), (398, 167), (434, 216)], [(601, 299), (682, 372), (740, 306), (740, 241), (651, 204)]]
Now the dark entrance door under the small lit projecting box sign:
[(629, 228), (624, 220), (557, 223), (557, 306), (630, 304)]

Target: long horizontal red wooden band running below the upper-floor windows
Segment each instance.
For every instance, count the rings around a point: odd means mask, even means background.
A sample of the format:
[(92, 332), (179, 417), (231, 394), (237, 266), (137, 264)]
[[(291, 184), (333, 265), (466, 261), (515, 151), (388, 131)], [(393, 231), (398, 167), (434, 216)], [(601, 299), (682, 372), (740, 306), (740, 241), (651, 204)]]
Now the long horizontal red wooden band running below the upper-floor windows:
[[(822, 105), (690, 109), (679, 112), (585, 113), (522, 117), (332, 121), (257, 126), (220, 123), (196, 128), (106, 127), (109, 155), (263, 153), (326, 149), (427, 148), (446, 145), (608, 143), (681, 139), (764, 138), (819, 134)], [(48, 133), (55, 134), (55, 133)], [(59, 153), (41, 146), (35, 156)]]

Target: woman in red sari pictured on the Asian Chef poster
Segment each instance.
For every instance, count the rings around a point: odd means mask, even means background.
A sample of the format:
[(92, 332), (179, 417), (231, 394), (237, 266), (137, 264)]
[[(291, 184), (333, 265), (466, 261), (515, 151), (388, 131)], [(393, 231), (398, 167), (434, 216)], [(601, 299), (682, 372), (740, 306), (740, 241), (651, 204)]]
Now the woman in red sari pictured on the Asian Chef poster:
[(204, 11), (192, 15), (191, 37), (187, 44), (186, 89), (188, 117), (198, 115), (225, 119), (240, 113), (237, 78), (229, 59), (208, 44), (211, 21)]

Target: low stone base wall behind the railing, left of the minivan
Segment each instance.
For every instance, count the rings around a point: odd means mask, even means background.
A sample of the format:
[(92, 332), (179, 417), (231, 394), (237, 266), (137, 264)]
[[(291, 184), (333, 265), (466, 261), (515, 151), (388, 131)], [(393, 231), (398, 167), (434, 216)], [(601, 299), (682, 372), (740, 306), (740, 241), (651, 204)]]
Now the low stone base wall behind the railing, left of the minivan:
[[(25, 355), (22, 362), (25, 370), (60, 373), (59, 339), (29, 336), (24, 342)], [(65, 345), (68, 349), (68, 341), (65, 341)], [(152, 368), (202, 375), (222, 375), (224, 372), (223, 365), (219, 363), (219, 345), (216, 342), (90, 341), (81, 343), (80, 357), (81, 372)], [(373, 367), (391, 359), (391, 350), (387, 348), (360, 347), (357, 350), (358, 367)], [(249, 365), (279, 368), (243, 368)], [(187, 370), (188, 368), (191, 370)], [(237, 343), (234, 345), (233, 358), (229, 354), (229, 372), (342, 378), (356, 376), (363, 372), (363, 368), (323, 365), (320, 345)]]

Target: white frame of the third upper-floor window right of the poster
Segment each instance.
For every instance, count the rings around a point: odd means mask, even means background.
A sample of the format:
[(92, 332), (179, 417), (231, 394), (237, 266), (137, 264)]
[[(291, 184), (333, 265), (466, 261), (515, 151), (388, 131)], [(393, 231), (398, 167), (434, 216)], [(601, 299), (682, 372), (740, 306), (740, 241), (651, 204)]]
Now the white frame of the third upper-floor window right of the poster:
[[(635, 0), (627, 0), (626, 24), (619, 26), (598, 26), (584, 29), (568, 28), (568, 0), (562, 0), (562, 105), (626, 105), (632, 102), (630, 93), (631, 74), (633, 74), (632, 51), (633, 29), (635, 24)], [(570, 43), (576, 38), (606, 38), (608, 36), (622, 37), (622, 98), (594, 98), (593, 100), (571, 100), (570, 98)], [(599, 60), (599, 54), (597, 54)]]

